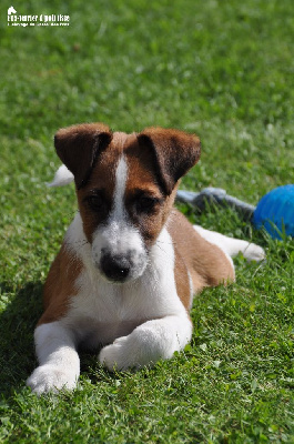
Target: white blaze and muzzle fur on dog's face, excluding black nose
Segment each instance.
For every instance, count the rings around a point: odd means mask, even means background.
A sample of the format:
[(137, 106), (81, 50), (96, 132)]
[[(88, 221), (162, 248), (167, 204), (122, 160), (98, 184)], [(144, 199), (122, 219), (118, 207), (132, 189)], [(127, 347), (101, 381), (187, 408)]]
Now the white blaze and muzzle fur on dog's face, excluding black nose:
[[(108, 261), (115, 260), (115, 266), (121, 262), (122, 268), (130, 268), (125, 279), (125, 281), (130, 281), (143, 273), (148, 256), (140, 232), (132, 225), (124, 205), (126, 181), (128, 163), (122, 155), (115, 171), (115, 186), (110, 215), (103, 225), (98, 226), (93, 235), (92, 259), (102, 275), (105, 272), (101, 263), (107, 256)], [(105, 278), (108, 279), (108, 276)]]

